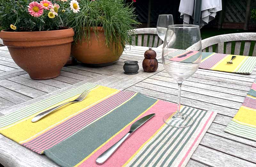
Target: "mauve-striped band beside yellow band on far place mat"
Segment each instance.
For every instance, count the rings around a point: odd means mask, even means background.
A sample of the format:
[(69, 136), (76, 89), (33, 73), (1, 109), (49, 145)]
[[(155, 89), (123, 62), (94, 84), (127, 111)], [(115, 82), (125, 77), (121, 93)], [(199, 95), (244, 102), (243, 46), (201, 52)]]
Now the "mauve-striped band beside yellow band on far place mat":
[(199, 66), (200, 69), (211, 69), (215, 64), (220, 62), (224, 57), (226, 57), (228, 54), (220, 54), (216, 53), (212, 55), (210, 58), (202, 62)]

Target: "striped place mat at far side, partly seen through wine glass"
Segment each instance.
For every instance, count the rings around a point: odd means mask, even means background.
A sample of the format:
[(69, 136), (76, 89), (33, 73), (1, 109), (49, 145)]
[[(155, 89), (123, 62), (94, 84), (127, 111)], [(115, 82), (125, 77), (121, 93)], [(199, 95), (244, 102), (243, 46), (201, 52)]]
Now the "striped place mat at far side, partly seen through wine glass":
[[(197, 51), (174, 49), (166, 58), (175, 59), (174, 61), (186, 62), (197, 57)], [(177, 58), (180, 55), (187, 54), (182, 58)], [(256, 65), (256, 57), (235, 55), (233, 64), (227, 62), (231, 60), (232, 54), (220, 54), (214, 52), (202, 52), (202, 61), (200, 69), (210, 69), (215, 71), (231, 72), (238, 74), (251, 74)], [(162, 63), (162, 58), (158, 60)]]

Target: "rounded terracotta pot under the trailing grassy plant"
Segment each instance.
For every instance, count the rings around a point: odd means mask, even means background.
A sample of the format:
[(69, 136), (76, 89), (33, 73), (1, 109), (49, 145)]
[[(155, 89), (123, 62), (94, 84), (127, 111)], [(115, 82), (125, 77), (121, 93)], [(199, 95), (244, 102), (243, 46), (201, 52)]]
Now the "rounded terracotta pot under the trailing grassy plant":
[[(96, 28), (96, 27), (95, 27)], [(84, 39), (78, 41), (76, 45), (71, 47), (71, 54), (82, 63), (92, 66), (107, 66), (111, 65), (119, 59), (123, 52), (123, 47), (120, 45), (118, 53), (106, 45), (106, 36), (102, 27), (97, 27), (98, 37), (91, 28), (90, 43), (88, 44)]]

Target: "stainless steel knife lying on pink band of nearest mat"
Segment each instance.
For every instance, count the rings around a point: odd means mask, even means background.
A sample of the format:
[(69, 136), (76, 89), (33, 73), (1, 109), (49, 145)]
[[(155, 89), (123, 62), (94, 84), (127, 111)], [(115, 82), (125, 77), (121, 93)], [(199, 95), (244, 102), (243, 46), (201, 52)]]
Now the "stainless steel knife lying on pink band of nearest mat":
[(147, 122), (148, 120), (150, 120), (154, 115), (156, 114), (149, 114), (145, 117), (142, 117), (141, 119), (137, 120), (136, 122), (134, 122), (132, 124), (132, 126), (130, 127), (130, 131), (124, 135), (124, 137), (122, 139), (120, 139), (118, 142), (116, 142), (116, 144), (114, 144), (113, 146), (111, 146), (109, 149), (107, 149), (105, 152), (103, 152), (97, 159), (96, 159), (96, 163), (98, 165), (103, 164), (104, 162), (106, 162), (108, 160), (108, 158), (110, 156), (112, 156), (112, 154), (114, 154), (114, 152), (124, 143), (124, 141), (126, 139), (128, 139), (128, 137), (130, 137), (133, 132), (135, 132), (139, 127), (141, 127), (145, 122)]

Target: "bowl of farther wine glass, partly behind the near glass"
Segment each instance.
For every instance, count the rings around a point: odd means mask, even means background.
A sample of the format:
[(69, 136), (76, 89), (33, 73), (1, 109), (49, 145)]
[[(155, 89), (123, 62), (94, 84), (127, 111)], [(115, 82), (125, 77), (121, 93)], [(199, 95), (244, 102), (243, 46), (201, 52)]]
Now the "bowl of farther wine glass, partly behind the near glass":
[(158, 16), (156, 31), (161, 40), (164, 41), (165, 33), (168, 25), (173, 25), (173, 18), (171, 14), (161, 14)]

